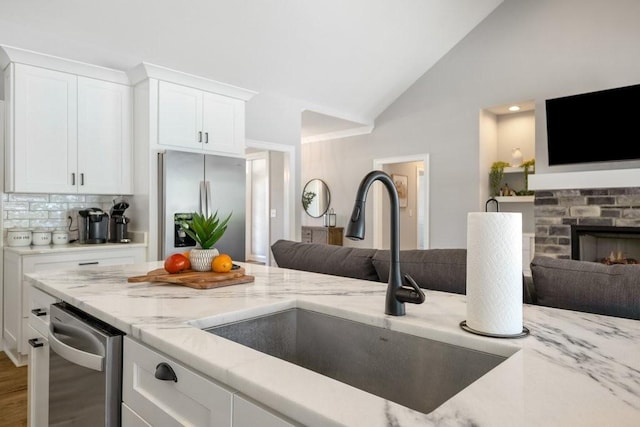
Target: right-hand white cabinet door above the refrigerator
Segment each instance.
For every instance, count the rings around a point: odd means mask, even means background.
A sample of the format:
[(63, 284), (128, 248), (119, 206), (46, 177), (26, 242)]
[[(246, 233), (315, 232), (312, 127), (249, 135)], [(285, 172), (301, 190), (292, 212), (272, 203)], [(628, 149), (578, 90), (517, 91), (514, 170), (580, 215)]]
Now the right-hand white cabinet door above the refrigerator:
[(204, 150), (212, 153), (244, 153), (244, 102), (203, 92)]

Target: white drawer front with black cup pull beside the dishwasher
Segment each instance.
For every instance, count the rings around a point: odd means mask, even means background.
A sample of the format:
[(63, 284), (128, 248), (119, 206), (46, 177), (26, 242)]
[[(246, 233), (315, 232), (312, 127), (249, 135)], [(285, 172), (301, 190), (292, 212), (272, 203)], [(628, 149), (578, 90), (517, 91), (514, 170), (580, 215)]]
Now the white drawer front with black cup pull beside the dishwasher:
[[(123, 401), (157, 426), (230, 426), (232, 393), (175, 360), (129, 337), (124, 340)], [(159, 380), (156, 367), (168, 364), (177, 381)]]

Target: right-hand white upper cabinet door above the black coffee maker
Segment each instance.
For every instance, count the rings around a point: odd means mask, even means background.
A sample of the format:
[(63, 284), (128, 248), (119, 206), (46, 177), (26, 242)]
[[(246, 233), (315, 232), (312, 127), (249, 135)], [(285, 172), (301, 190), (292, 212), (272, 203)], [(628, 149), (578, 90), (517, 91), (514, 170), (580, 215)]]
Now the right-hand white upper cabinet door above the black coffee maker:
[(78, 77), (79, 193), (131, 194), (131, 88)]

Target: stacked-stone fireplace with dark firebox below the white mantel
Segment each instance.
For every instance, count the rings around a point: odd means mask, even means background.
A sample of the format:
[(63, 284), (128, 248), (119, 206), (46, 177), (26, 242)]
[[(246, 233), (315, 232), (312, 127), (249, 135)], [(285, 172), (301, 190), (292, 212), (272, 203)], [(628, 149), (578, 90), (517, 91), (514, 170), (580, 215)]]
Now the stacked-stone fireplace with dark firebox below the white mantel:
[[(536, 255), (640, 259), (640, 187), (536, 190), (534, 220)], [(586, 253), (574, 255), (580, 246)]]

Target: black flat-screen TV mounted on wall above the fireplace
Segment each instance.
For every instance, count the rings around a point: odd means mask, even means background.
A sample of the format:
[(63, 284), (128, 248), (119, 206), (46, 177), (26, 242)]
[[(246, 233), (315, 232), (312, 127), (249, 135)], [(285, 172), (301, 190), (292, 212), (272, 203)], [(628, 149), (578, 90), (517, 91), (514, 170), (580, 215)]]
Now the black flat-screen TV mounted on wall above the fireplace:
[(546, 100), (549, 166), (640, 160), (640, 84)]

